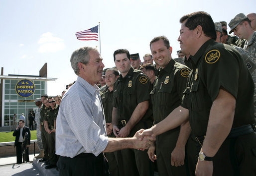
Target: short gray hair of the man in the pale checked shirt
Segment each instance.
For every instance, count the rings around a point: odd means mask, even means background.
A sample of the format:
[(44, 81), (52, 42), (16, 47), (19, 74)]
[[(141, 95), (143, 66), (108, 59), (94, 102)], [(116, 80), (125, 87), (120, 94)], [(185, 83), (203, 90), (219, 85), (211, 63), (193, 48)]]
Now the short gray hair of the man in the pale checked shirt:
[(82, 47), (73, 52), (70, 58), (70, 62), (73, 70), (77, 75), (79, 74), (78, 62), (87, 64), (90, 59), (89, 52), (91, 50), (98, 51), (96, 48), (93, 48), (93, 47)]

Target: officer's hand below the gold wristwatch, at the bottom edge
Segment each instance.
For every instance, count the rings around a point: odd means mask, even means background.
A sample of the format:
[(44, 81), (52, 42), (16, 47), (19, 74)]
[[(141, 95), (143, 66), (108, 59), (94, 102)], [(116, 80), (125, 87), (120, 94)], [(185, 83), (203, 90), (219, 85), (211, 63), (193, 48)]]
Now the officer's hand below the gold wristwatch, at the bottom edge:
[(195, 175), (196, 176), (212, 176), (213, 175), (213, 162), (212, 161), (200, 161), (198, 159)]

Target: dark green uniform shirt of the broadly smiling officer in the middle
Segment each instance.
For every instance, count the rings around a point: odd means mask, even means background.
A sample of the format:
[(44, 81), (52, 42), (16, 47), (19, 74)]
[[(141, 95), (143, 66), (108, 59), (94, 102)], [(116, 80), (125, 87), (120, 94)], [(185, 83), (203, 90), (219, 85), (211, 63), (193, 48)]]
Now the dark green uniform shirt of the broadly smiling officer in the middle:
[(162, 121), (180, 105), (189, 73), (187, 66), (173, 59), (163, 69), (160, 68), (150, 92), (155, 123)]

